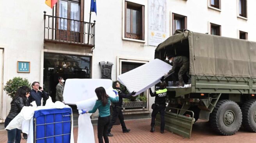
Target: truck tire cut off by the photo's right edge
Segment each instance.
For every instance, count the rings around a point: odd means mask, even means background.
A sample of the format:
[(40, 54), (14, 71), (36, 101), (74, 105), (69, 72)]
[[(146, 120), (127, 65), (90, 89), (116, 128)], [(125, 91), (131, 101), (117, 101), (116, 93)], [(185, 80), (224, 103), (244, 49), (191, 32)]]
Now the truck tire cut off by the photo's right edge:
[(248, 100), (242, 106), (243, 127), (250, 131), (256, 132), (256, 100)]

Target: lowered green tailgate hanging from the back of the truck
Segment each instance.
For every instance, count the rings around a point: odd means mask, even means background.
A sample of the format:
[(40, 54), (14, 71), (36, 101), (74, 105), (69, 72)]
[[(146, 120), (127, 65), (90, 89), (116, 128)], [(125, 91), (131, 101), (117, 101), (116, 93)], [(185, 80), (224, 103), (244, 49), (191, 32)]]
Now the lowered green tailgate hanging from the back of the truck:
[[(177, 113), (169, 112), (170, 110), (177, 110)], [(165, 112), (165, 130), (172, 133), (180, 134), (184, 138), (190, 138), (192, 126), (195, 122), (194, 112), (190, 110), (185, 110), (186, 112), (192, 112), (192, 117), (187, 117), (184, 115), (179, 115), (179, 112), (183, 109), (167, 107)], [(161, 119), (160, 114), (156, 115), (156, 125), (160, 126)]]

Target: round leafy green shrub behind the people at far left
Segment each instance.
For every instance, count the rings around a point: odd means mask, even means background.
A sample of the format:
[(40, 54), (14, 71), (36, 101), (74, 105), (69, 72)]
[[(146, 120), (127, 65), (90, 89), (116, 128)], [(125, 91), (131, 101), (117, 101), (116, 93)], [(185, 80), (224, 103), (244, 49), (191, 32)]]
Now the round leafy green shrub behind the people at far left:
[(22, 78), (22, 77), (14, 77), (10, 79), (9, 81), (6, 82), (4, 86), (4, 91), (11, 97), (13, 98), (16, 91), (21, 87), (21, 86), (27, 86), (30, 87), (31, 83), (28, 82), (27, 78)]

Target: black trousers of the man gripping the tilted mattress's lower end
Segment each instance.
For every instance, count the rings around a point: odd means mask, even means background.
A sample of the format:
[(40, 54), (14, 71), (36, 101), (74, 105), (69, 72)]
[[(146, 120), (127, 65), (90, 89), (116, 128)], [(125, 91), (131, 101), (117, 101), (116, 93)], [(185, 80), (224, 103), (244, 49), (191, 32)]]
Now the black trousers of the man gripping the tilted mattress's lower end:
[(112, 120), (110, 121), (109, 127), (108, 127), (108, 133), (111, 132), (111, 129), (116, 122), (117, 118), (119, 118), (121, 126), (123, 131), (126, 129), (125, 123), (124, 123), (124, 115), (121, 109), (121, 106), (115, 106), (113, 108), (113, 115), (112, 115)]

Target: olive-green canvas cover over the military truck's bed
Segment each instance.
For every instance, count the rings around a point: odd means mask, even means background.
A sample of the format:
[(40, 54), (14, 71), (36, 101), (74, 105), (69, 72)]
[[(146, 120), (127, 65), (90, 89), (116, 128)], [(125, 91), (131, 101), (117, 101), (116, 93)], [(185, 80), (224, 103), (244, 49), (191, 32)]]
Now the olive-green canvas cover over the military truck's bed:
[(176, 31), (156, 51), (188, 39), (190, 75), (256, 78), (256, 42)]

